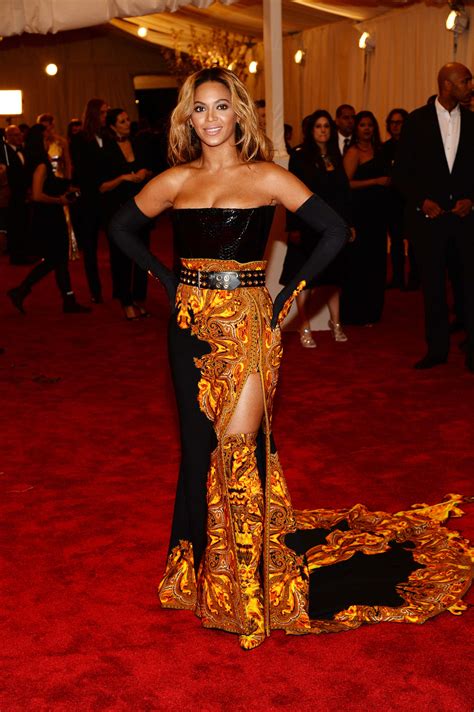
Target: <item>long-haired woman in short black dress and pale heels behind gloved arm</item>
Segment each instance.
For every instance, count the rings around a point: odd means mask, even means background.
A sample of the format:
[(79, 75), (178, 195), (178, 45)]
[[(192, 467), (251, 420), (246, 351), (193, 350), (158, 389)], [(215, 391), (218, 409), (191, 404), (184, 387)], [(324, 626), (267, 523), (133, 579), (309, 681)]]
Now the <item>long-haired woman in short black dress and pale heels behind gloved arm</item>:
[[(336, 212), (350, 223), (350, 189), (347, 176), (342, 166), (337, 145), (336, 126), (327, 111), (319, 109), (305, 122), (304, 139), (301, 149), (290, 158), (289, 170), (317, 193)], [(283, 263), (280, 278), (282, 284), (288, 284), (295, 273), (311, 254), (318, 236), (304, 223), (288, 214), (288, 250)], [(336, 341), (347, 341), (339, 318), (340, 284), (344, 270), (345, 250), (318, 277), (318, 286), (329, 286), (327, 305), (330, 319), (328, 326)], [(311, 285), (296, 297), (300, 317), (300, 341), (305, 348), (315, 348), (311, 334), (307, 302), (311, 294)]]

